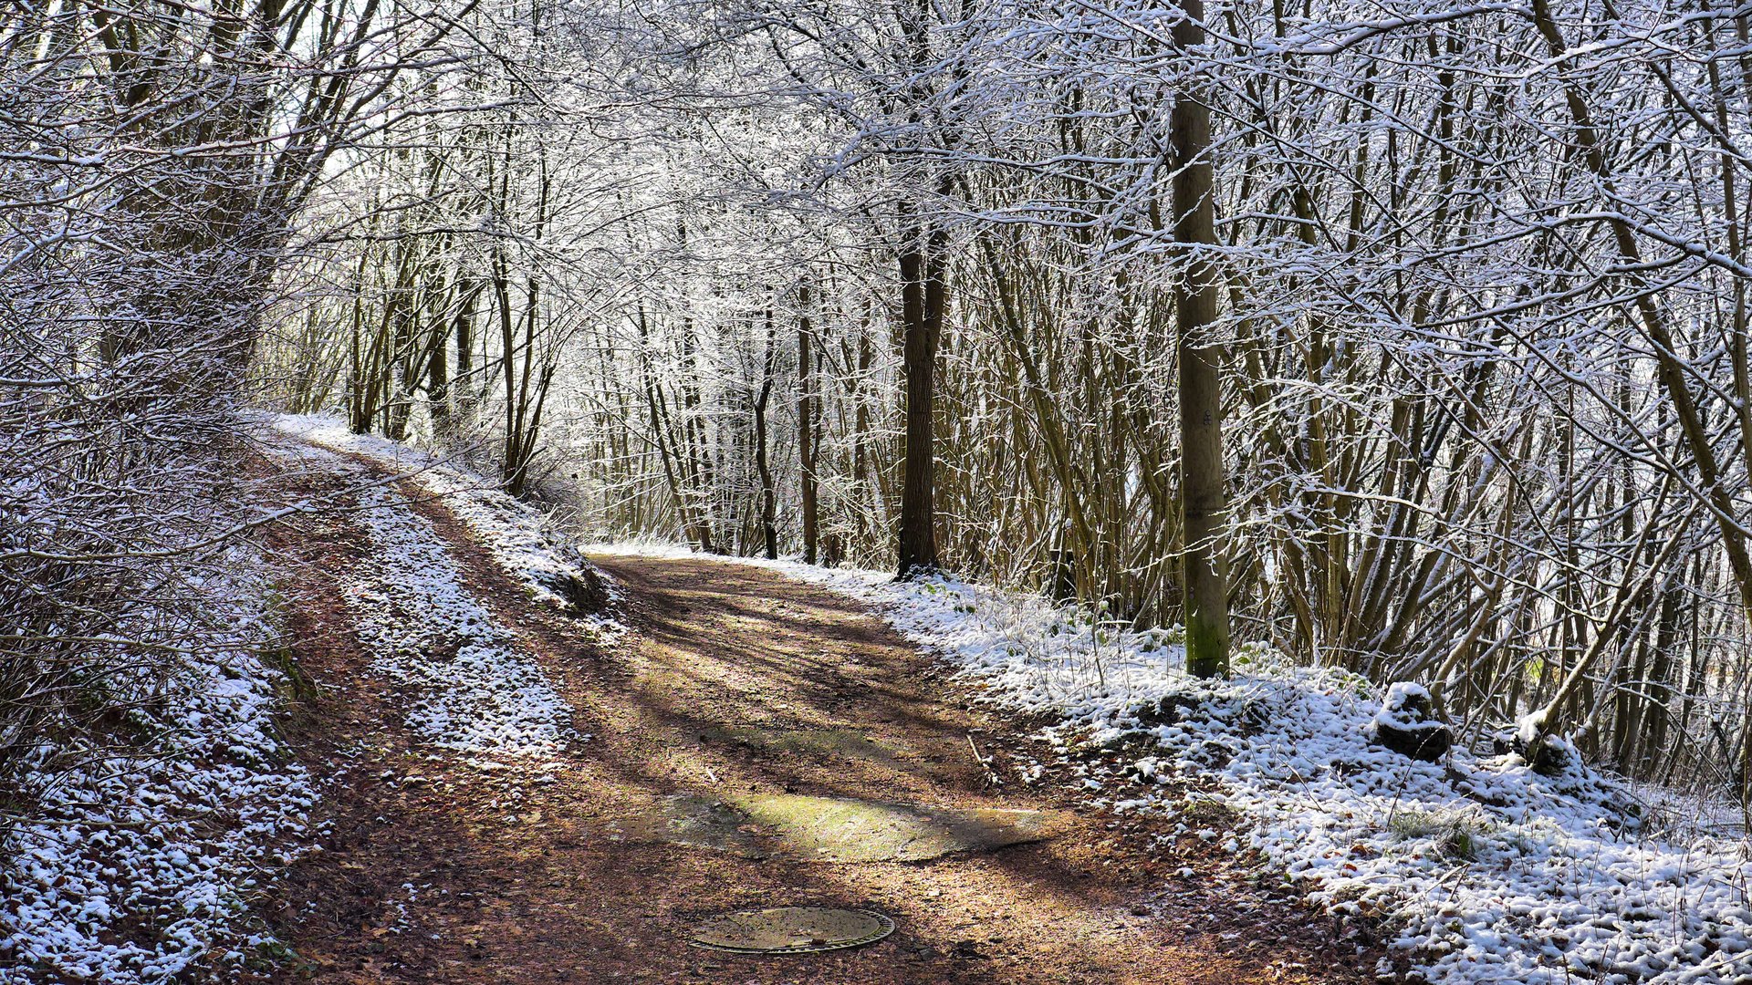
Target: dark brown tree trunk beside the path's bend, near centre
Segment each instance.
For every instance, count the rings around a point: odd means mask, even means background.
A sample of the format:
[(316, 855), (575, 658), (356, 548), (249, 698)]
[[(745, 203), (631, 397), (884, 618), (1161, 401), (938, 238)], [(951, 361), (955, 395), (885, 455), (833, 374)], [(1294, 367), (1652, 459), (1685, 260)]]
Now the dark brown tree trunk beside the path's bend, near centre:
[(906, 454), (901, 482), (899, 577), (937, 568), (932, 405), (946, 303), (943, 237), (918, 224), (901, 242), (901, 370), (906, 377)]

